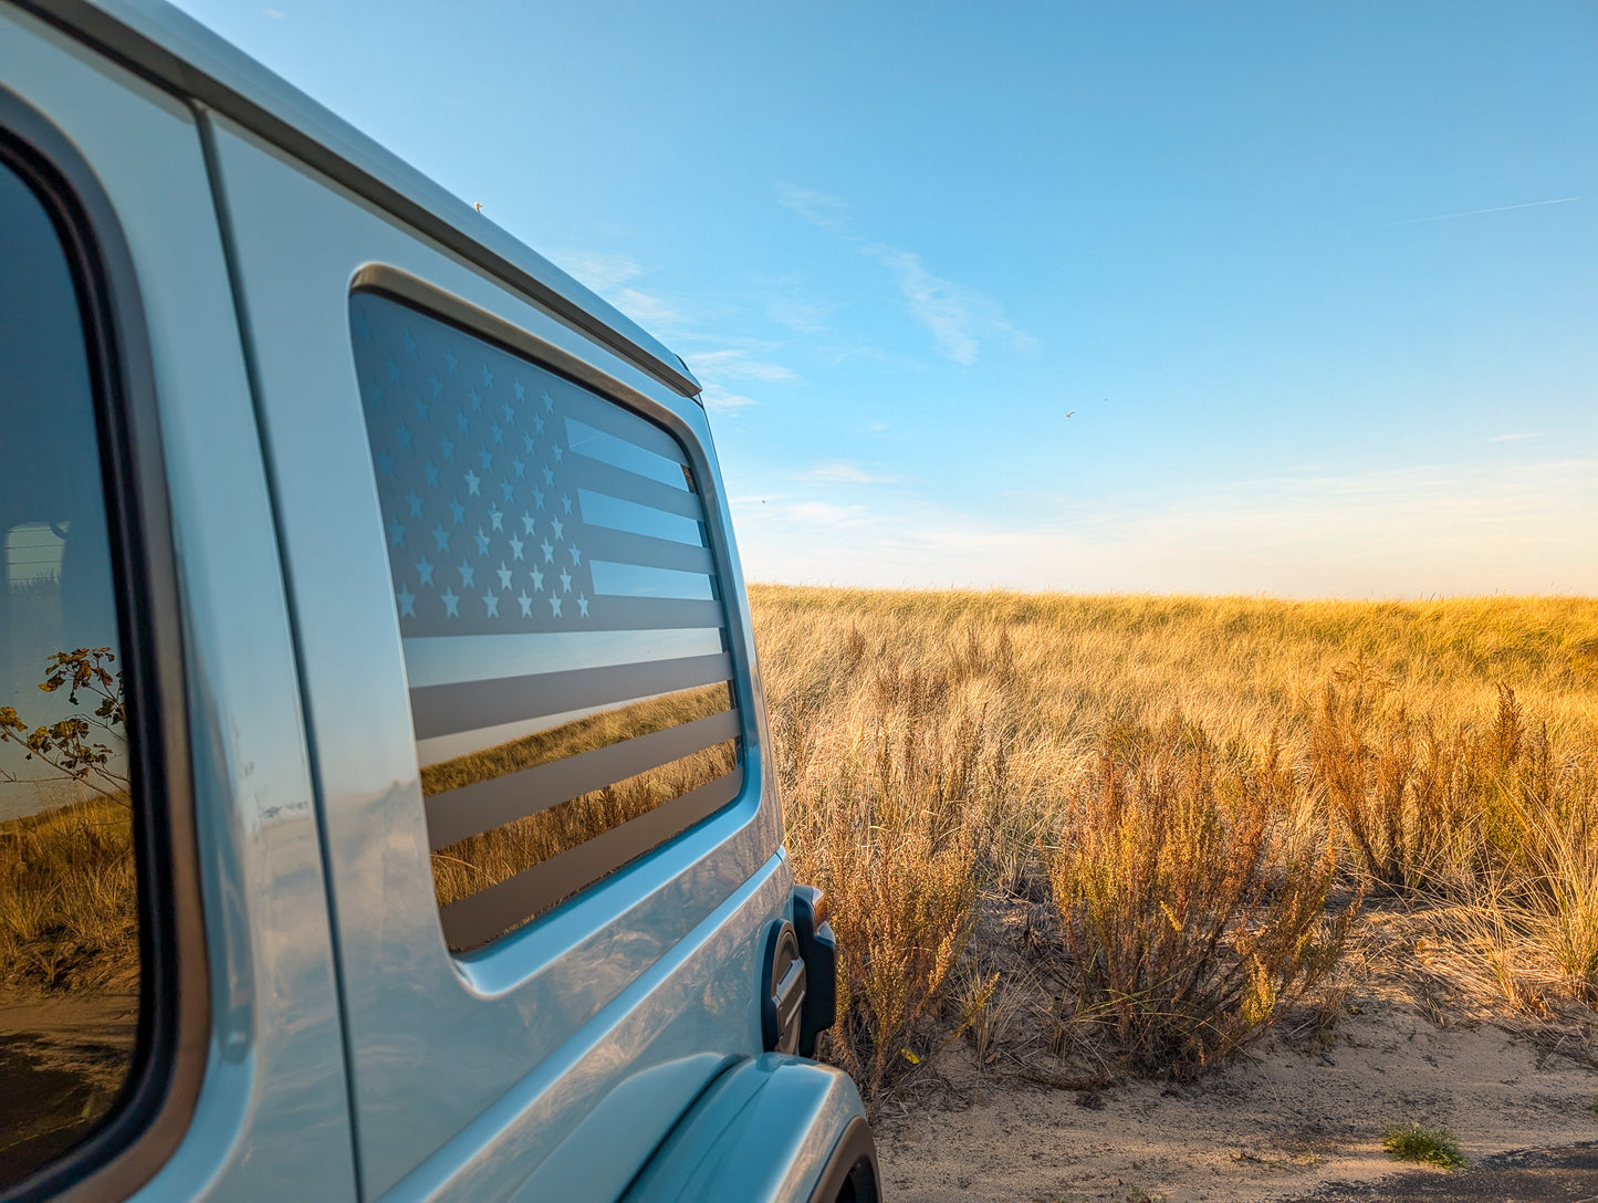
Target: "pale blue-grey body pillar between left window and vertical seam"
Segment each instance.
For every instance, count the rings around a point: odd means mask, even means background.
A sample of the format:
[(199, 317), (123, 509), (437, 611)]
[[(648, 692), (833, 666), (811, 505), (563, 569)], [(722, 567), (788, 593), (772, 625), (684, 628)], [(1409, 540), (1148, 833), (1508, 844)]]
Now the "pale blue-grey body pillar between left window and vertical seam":
[(189, 1133), (142, 1195), (353, 1193), (299, 682), (195, 117), (11, 10), (0, 80), (99, 176), (134, 260), (160, 406), (213, 1016)]

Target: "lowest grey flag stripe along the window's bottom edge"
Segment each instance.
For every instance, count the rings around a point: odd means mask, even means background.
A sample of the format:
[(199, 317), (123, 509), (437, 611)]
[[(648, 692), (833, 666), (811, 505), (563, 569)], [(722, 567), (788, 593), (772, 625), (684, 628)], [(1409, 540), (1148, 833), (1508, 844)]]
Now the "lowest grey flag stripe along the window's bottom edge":
[(457, 951), (489, 943), (642, 856), (655, 845), (681, 836), (700, 820), (710, 818), (738, 797), (741, 788), (740, 765), (681, 797), (662, 802), (647, 815), (639, 815), (586, 844), (523, 869), (499, 885), (451, 903), (439, 911), (444, 939)]

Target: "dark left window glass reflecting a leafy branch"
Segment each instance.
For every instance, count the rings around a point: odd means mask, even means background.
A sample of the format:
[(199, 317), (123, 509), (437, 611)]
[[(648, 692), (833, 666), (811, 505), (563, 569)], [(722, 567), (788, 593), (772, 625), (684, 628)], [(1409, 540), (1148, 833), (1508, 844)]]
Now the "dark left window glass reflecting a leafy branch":
[(88, 351), (45, 206), (0, 165), (0, 1189), (112, 1110), (139, 1022), (117, 601)]

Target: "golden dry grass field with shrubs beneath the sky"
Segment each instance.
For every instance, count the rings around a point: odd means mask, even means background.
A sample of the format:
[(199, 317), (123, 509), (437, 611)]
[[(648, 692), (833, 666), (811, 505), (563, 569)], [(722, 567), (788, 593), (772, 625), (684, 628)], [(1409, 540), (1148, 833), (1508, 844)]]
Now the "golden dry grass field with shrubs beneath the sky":
[(751, 604), (879, 1114), (956, 1045), (1079, 1093), (1325, 1048), (1376, 978), (1590, 1058), (1598, 601)]

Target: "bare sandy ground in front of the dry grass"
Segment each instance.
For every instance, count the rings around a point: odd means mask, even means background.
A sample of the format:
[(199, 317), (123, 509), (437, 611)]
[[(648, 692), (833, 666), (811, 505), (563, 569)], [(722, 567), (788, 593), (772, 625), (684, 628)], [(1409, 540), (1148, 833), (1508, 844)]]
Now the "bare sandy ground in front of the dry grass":
[[(1036, 914), (988, 899), (975, 939), (983, 971), (1024, 968), (1018, 933)], [(986, 1066), (968, 1037), (928, 1048), (877, 1117), (887, 1197), (1266, 1203), (1405, 1171), (1381, 1137), (1411, 1122), (1448, 1126), (1473, 1163), (1598, 1141), (1598, 1011), (1493, 1005), (1480, 957), (1440, 946), (1435, 928), (1435, 914), (1368, 906), (1330, 1026), (1325, 1006), (1304, 1008), (1189, 1083), (1082, 1090), (1085, 1070), (1047, 1053), (1026, 1006)], [(1494, 1197), (1509, 1198), (1481, 1195)]]

